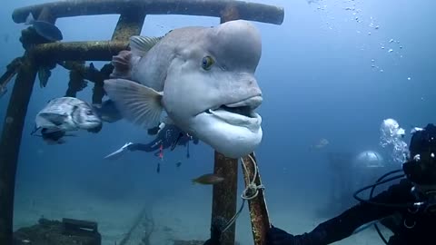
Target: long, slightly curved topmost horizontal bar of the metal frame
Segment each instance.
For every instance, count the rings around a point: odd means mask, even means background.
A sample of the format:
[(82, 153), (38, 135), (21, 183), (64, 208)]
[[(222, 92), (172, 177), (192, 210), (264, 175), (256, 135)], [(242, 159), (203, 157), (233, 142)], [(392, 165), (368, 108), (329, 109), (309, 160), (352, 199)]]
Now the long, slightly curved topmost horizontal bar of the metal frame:
[(70, 0), (31, 5), (15, 9), (15, 23), (25, 23), (29, 13), (38, 16), (49, 8), (54, 18), (79, 15), (111, 15), (140, 11), (145, 15), (203, 15), (221, 17), (226, 7), (239, 12), (239, 18), (281, 25), (284, 18), (282, 7), (235, 0)]

